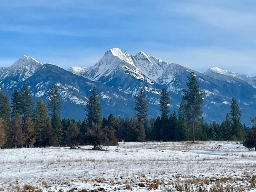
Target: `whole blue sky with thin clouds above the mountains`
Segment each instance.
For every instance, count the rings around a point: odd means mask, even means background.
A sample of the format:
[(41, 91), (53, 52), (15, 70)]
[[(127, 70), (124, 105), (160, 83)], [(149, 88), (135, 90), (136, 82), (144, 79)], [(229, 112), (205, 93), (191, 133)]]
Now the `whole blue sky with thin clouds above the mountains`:
[(64, 69), (113, 47), (204, 72), (256, 76), (255, 0), (0, 0), (0, 66), (22, 55)]

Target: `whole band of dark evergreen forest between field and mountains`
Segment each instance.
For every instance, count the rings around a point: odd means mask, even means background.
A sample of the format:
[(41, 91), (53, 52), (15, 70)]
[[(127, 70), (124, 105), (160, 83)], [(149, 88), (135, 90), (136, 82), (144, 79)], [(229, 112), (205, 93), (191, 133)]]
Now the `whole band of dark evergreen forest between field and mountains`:
[(256, 147), (256, 118), (254, 126), (246, 127), (240, 122), (242, 111), (232, 98), (230, 111), (221, 124), (204, 122), (202, 102), (204, 92), (199, 90), (196, 75), (188, 76), (187, 89), (183, 90), (178, 112), (170, 113), (170, 98), (162, 88), (159, 101), (161, 116), (148, 119), (146, 93), (141, 89), (135, 96), (133, 118), (102, 117), (102, 106), (96, 88), (92, 90), (85, 113), (87, 118), (60, 119), (61, 96), (56, 84), (48, 91), (48, 104), (42, 99), (34, 101), (32, 92), (24, 84), (14, 90), (11, 105), (8, 97), (0, 90), (0, 147), (44, 147), (90, 144), (94, 149), (102, 145), (117, 145), (118, 141), (188, 141), (219, 140), (244, 141), (248, 147)]

